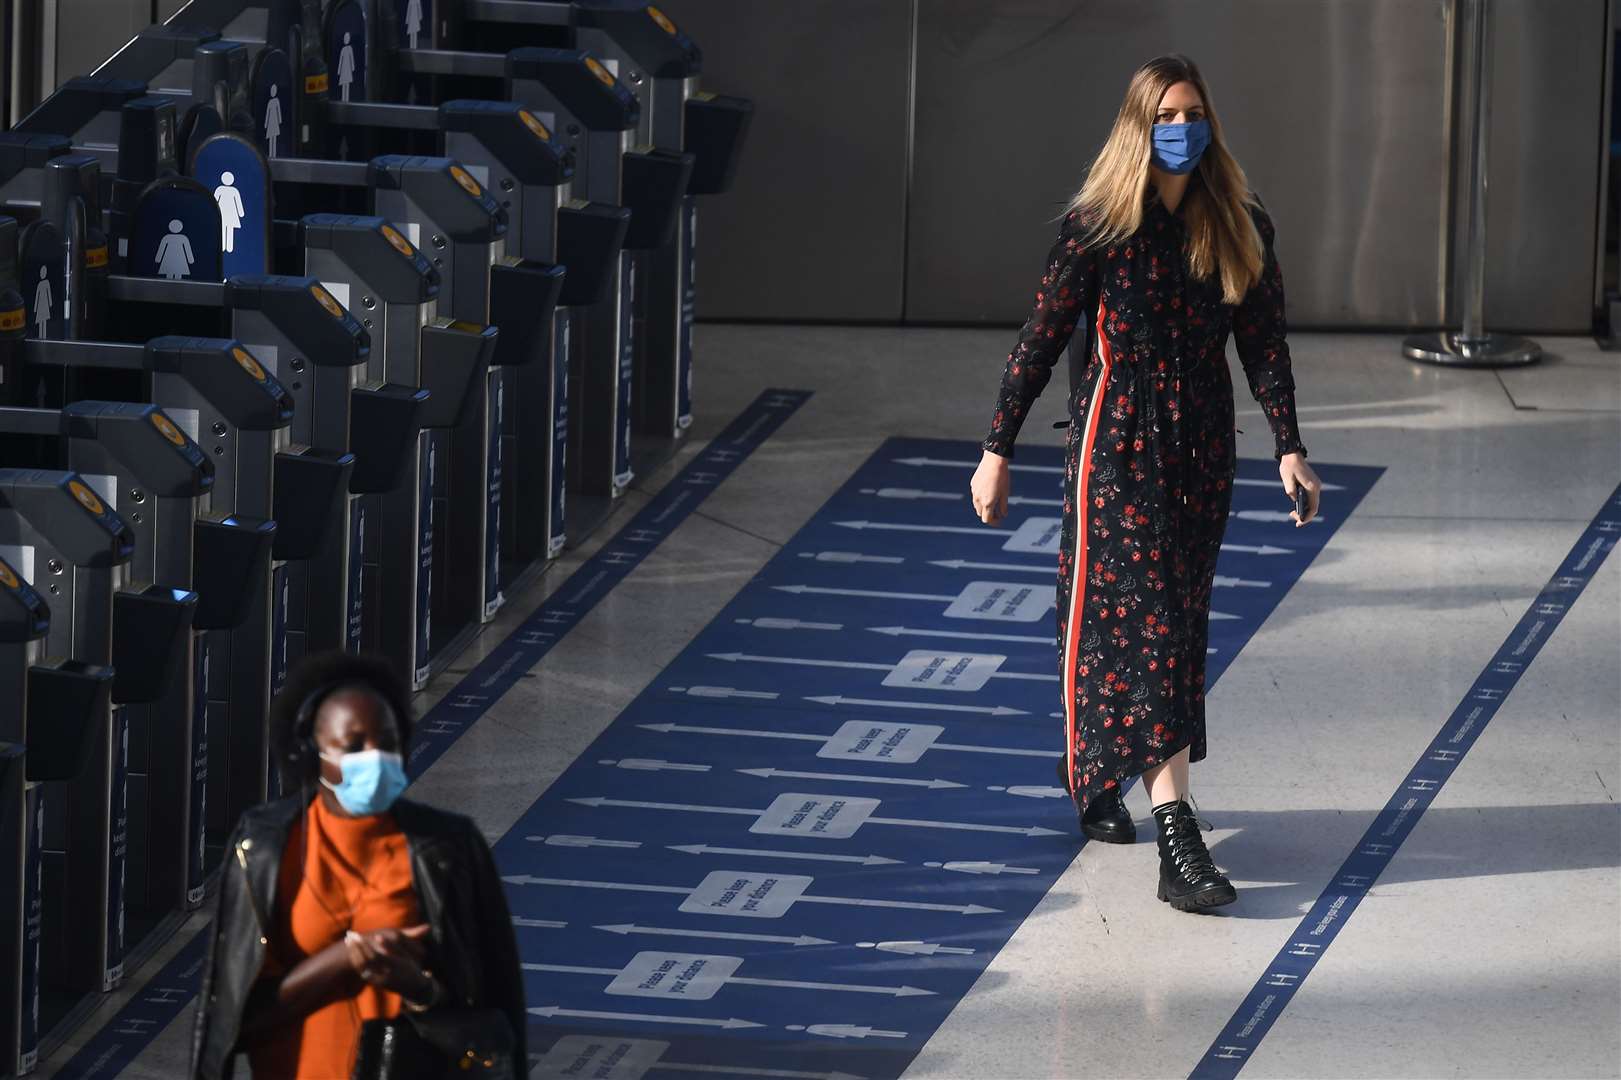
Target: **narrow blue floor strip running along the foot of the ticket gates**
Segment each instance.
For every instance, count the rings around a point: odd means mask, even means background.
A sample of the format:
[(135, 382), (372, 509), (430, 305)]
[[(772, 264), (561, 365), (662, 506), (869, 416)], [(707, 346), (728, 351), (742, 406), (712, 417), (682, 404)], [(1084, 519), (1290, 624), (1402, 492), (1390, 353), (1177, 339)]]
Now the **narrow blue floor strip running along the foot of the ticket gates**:
[[(485, 715), (626, 574), (674, 532), (715, 486), (772, 436), (810, 391), (767, 389), (726, 425), (669, 483), (585, 559), (522, 624), (417, 722), (410, 772), (420, 777)], [(207, 937), (196, 932), (139, 994), (70, 1057), (57, 1077), (115, 1077), (196, 996)]]

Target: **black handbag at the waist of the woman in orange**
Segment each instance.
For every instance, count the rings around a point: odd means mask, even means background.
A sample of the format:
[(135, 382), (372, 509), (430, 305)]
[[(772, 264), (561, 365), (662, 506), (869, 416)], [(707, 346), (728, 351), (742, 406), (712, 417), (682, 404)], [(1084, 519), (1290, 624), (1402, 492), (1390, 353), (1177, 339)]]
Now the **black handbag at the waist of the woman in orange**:
[(353, 1080), (512, 1077), (512, 1025), (498, 1009), (430, 1009), (360, 1025)]

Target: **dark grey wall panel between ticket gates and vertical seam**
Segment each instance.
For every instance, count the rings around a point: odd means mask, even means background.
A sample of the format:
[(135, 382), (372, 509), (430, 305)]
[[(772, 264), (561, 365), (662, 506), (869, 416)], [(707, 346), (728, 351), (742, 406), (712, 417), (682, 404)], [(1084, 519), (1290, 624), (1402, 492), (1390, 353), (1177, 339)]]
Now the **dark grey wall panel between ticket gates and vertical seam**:
[(699, 315), (898, 319), (908, 0), (661, 6), (700, 86), (755, 102), (736, 186), (699, 203)]

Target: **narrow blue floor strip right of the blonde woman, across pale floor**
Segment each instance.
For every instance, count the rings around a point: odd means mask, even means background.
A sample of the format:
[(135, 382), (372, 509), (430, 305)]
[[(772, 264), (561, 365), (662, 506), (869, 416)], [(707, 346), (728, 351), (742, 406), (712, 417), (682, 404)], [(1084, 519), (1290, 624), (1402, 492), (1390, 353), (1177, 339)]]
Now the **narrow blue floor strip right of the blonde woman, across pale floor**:
[(1435, 803), (1459, 762), (1486, 730), (1503, 699), (1553, 637), (1566, 611), (1603, 566), (1605, 556), (1615, 550), (1618, 537), (1621, 537), (1621, 486), (1582, 530), (1569, 555), (1559, 563), (1559, 569), (1525, 608), (1525, 615), (1498, 645), (1485, 670), (1475, 676), (1464, 701), (1397, 785), (1355, 850), (1329, 879), (1328, 887), (1300, 919), (1238, 1010), (1232, 1014), (1227, 1026), (1204, 1051), (1191, 1077), (1216, 1080), (1238, 1075), (1279, 1014), (1289, 1007), (1295, 991), (1311, 975), (1323, 952), (1391, 864), (1414, 825)]

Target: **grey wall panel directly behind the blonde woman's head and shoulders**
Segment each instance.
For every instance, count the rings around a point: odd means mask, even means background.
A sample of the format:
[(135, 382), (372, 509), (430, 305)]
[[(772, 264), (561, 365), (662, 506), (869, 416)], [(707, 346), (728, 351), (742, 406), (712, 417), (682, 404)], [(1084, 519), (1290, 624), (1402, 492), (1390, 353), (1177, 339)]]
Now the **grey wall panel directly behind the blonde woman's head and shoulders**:
[(1300, 326), (1439, 319), (1441, 0), (921, 0), (906, 316), (1021, 321), (1131, 71), (1200, 63)]

